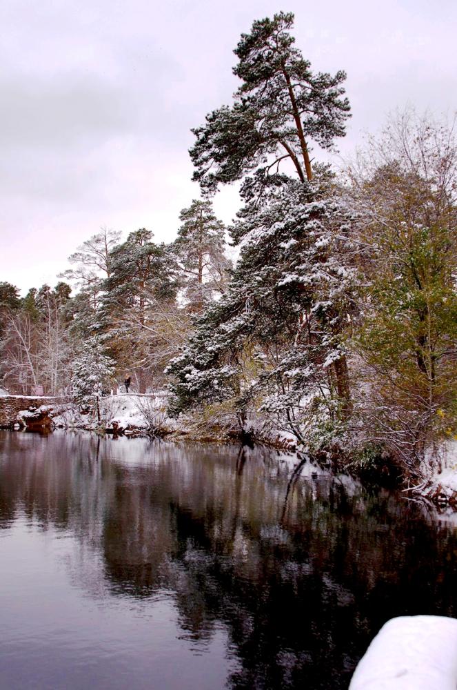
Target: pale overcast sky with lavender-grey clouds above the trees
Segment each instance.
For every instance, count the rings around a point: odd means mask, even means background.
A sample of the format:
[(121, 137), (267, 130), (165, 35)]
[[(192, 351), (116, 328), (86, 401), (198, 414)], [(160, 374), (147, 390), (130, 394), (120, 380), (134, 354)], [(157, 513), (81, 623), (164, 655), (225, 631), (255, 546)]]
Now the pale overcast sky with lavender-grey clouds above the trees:
[[(347, 72), (343, 155), (389, 110), (456, 110), (455, 0), (0, 0), (0, 281), (54, 285), (100, 226), (173, 239), (199, 196), (190, 128), (230, 103), (241, 32), (279, 10), (314, 70)], [(230, 221), (236, 190), (215, 207)]]

